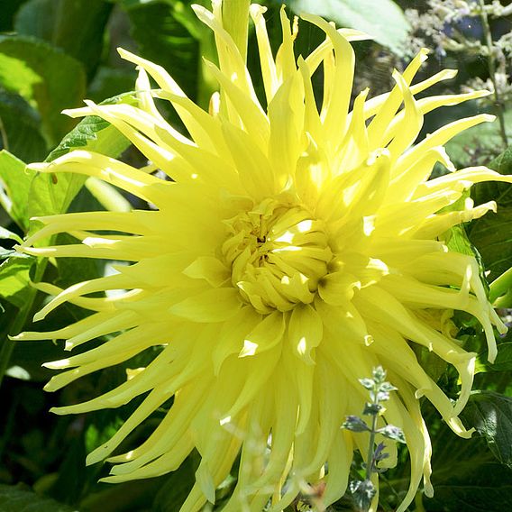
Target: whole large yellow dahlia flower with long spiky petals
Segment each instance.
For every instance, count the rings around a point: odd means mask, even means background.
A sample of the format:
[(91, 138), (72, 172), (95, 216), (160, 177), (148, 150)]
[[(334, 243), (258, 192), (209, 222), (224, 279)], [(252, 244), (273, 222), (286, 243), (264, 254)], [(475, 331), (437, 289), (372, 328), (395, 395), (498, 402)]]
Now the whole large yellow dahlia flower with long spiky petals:
[[(403, 511), (422, 478), (425, 493), (433, 492), (431, 444), (419, 398), (427, 398), (456, 434), (471, 435), (458, 415), (470, 395), (475, 354), (453, 338), (453, 310), (479, 320), (490, 359), (496, 354), (493, 326), (505, 330), (489, 305), (475, 259), (448, 251), (443, 242), (453, 225), (495, 207), (473, 206), (469, 199), (459, 210), (446, 206), (473, 183), (508, 179), (484, 167), (455, 171), (443, 150), (454, 135), (492, 117), (455, 121), (413, 145), (424, 114), (487, 93), (416, 99), (454, 76), (443, 70), (411, 85), (426, 59), (422, 50), (403, 74), (393, 72), (396, 86), (389, 94), (367, 99), (364, 90), (350, 110), (349, 41), (364, 35), (304, 15), (326, 40), (296, 59), (297, 23), (290, 25), (281, 10), (283, 41), (274, 58), (265, 9), (251, 5), (266, 96), (261, 102), (223, 27), (219, 0), (213, 13), (194, 9), (215, 32), (220, 62), (218, 68), (208, 64), (221, 88), (209, 113), (164, 69), (120, 50), (140, 69), (140, 106), (86, 102), (86, 108), (69, 114), (99, 115), (154, 165), (134, 169), (90, 151), (32, 165), (41, 172), (103, 179), (156, 208), (39, 218), (44, 227), (20, 251), (132, 264), (65, 290), (39, 284), (55, 297), (35, 320), (65, 301), (93, 313), (58, 331), (18, 338), (64, 339), (71, 350), (110, 335), (96, 348), (48, 363), (51, 369), (70, 369), (53, 377), (48, 390), (148, 347), (161, 348), (118, 388), (53, 411), (120, 407), (148, 393), (87, 463), (109, 457), (114, 466), (104, 480), (121, 482), (174, 471), (196, 448), (201, 462), (184, 511), (215, 501), (215, 488), (237, 457), (238, 480), (224, 512), (260, 511), (269, 501), (271, 510), (281, 510), (307, 484), (320, 483), (324, 506), (342, 497), (352, 454), (366, 453), (369, 440), (340, 425), (364, 406), (358, 379), (382, 365), (398, 392), (379, 417), (380, 426), (403, 430), (411, 459), (410, 487), (398, 507)], [(312, 76), (321, 66), (324, 92), (316, 98)], [(151, 90), (150, 77), (159, 89)], [(154, 97), (173, 105), (188, 136), (166, 123)], [(428, 180), (436, 162), (451, 172)], [(157, 168), (171, 180), (151, 175)], [(56, 233), (70, 233), (78, 243), (33, 246)], [(123, 292), (87, 297), (114, 289)], [(459, 372), (455, 403), (418, 363), (414, 344)], [(172, 407), (147, 441), (112, 456), (172, 397)]]

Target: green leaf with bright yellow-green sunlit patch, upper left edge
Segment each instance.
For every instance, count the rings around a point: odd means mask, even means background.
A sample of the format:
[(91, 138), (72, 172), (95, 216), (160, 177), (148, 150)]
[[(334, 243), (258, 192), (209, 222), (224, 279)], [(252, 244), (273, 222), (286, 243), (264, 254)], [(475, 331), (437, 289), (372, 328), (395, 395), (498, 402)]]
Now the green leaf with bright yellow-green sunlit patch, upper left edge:
[(44, 41), (1, 36), (0, 87), (23, 96), (38, 110), (41, 132), (52, 146), (75, 124), (60, 111), (80, 105), (86, 93), (86, 75), (78, 60)]

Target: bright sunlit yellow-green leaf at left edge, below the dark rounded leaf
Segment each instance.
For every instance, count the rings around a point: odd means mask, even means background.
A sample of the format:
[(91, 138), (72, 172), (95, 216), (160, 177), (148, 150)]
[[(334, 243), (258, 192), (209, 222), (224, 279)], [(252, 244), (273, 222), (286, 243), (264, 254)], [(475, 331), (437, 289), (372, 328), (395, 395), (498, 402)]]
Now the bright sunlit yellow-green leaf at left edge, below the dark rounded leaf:
[(23, 233), (28, 231), (31, 182), (34, 172), (8, 151), (0, 151), (0, 204)]

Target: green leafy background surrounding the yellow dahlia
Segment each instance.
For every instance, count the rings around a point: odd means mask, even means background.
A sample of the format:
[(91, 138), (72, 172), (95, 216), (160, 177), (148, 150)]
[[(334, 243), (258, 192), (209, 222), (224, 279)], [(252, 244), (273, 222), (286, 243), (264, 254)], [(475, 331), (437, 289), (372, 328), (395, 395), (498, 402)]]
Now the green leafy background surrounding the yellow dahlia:
[[(489, 4), (490, 2), (488, 2)], [(269, 7), (269, 32), (274, 48), (279, 41), (279, 2)], [(507, 2), (503, 3), (507, 5)], [(206, 2), (205, 2), (206, 5)], [(378, 5), (379, 15), (375, 15)], [(372, 90), (389, 87), (389, 63), (403, 69), (411, 26), (403, 9), (411, 5), (425, 10), (425, 2), (391, 0), (290, 0), (288, 11), (324, 15), (340, 26), (369, 32), (372, 42), (356, 43), (358, 79), (361, 87), (370, 79)], [(503, 18), (508, 23), (509, 17)], [(503, 23), (502, 20), (502, 23)], [(471, 20), (475, 21), (475, 20)], [(476, 20), (478, 25), (478, 20)], [(503, 30), (494, 27), (493, 30)], [(478, 32), (478, 31), (477, 31)], [(322, 40), (314, 27), (304, 25), (297, 41), (297, 53), (306, 54)], [(477, 37), (480, 35), (477, 33)], [(254, 35), (250, 33), (250, 47)], [(87, 147), (123, 160), (143, 164), (142, 156), (108, 123), (94, 116), (81, 123), (60, 114), (64, 108), (79, 106), (84, 97), (96, 102), (135, 101), (135, 71), (117, 56), (122, 46), (146, 59), (158, 62), (199, 105), (207, 107), (215, 83), (208, 76), (201, 56), (215, 59), (212, 35), (189, 8), (176, 0), (2, 0), (0, 3), (0, 512), (128, 512), (178, 511), (194, 480), (197, 454), (182, 467), (158, 479), (127, 484), (97, 483), (105, 468), (86, 468), (85, 456), (104, 443), (136, 404), (118, 410), (105, 410), (78, 416), (53, 416), (48, 409), (77, 402), (111, 389), (123, 381), (126, 368), (143, 366), (151, 351), (128, 361), (123, 367), (80, 379), (66, 389), (46, 394), (42, 386), (50, 370), (44, 361), (59, 359), (59, 344), (28, 342), (14, 344), (7, 334), (30, 328), (33, 313), (44, 297), (29, 286), (29, 280), (52, 280), (61, 287), (78, 279), (90, 279), (108, 271), (108, 262), (66, 259), (56, 265), (36, 261), (13, 251), (14, 243), (34, 229), (34, 215), (51, 215), (83, 209), (123, 210), (147, 207), (134, 204), (95, 180), (63, 176), (58, 181), (35, 176), (25, 162), (52, 160), (73, 148)], [(250, 69), (257, 69), (257, 56), (249, 55)], [(447, 87), (458, 92), (467, 78), (489, 77), (489, 69), (478, 56), (461, 60), (461, 55), (435, 54), (429, 72), (442, 67), (462, 69), (462, 78)], [(385, 69), (385, 73), (381, 72)], [(253, 73), (258, 77), (257, 72)], [(446, 87), (446, 86), (444, 86)], [(261, 91), (261, 83), (256, 83)], [(474, 102), (471, 102), (474, 104)], [(485, 105), (463, 105), (442, 109), (427, 118), (425, 133), (455, 117), (474, 114)], [(512, 115), (504, 105), (507, 127), (512, 133)], [(171, 111), (165, 113), (179, 127)], [(479, 131), (480, 130), (480, 131)], [(476, 128), (451, 142), (449, 151), (460, 166), (474, 163), (476, 142), (484, 148), (490, 167), (512, 173), (512, 150), (502, 152), (496, 124)], [(453, 230), (453, 247), (478, 251), (489, 280), (508, 270), (512, 261), (512, 191), (503, 184), (474, 187), (473, 198), (482, 203), (498, 199), (498, 214), (489, 214)], [(466, 236), (467, 235), (469, 236)], [(510, 280), (510, 279), (509, 279)], [(508, 280), (508, 282), (509, 282)], [(506, 283), (507, 285), (507, 283)], [(512, 300), (507, 286), (500, 297), (502, 315)], [(503, 287), (502, 287), (503, 288)], [(510, 294), (510, 292), (509, 292)], [(507, 298), (508, 297), (508, 298)], [(61, 306), (59, 311), (38, 325), (54, 329), (82, 315), (78, 308)], [(463, 412), (467, 426), (478, 435), (463, 441), (452, 434), (436, 413), (424, 404), (424, 415), (434, 443), (435, 496), (418, 495), (410, 510), (422, 511), (502, 511), (512, 509), (512, 335), (500, 339), (498, 360), (486, 362), (484, 342), (478, 325), (464, 317), (456, 318), (460, 337), (471, 350), (480, 353), (475, 393)], [(418, 357), (432, 371), (440, 386), (453, 397), (457, 377), (425, 352)], [(135, 365), (135, 366), (133, 366)], [(141, 426), (128, 443), (137, 443), (160, 420), (157, 413)], [(398, 467), (382, 475), (380, 507), (393, 510), (407, 489), (407, 453), (399, 453)], [(358, 467), (354, 465), (354, 476)], [(234, 478), (217, 489), (218, 505), (233, 489)], [(306, 509), (303, 502), (290, 510)], [(352, 510), (350, 497), (334, 504), (334, 510)]]

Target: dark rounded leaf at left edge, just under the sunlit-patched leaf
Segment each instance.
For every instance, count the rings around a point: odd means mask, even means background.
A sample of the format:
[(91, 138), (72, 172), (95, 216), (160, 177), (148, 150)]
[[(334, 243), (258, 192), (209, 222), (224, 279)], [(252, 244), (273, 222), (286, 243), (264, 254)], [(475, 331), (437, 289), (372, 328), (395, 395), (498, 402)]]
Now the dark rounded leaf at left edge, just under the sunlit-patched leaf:
[(4, 128), (0, 149), (11, 151), (24, 161), (46, 156), (48, 149), (40, 133), (40, 115), (22, 96), (0, 91), (0, 121)]

